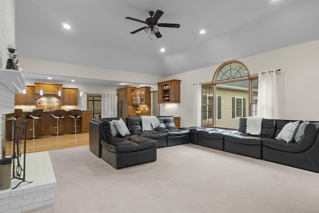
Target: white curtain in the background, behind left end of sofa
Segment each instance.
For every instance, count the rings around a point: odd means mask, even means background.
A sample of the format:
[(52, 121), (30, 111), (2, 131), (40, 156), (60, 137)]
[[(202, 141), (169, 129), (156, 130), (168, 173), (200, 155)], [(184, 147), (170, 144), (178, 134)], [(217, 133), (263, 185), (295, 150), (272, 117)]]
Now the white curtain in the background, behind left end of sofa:
[(116, 94), (102, 95), (101, 117), (102, 118), (117, 117), (117, 95)]

